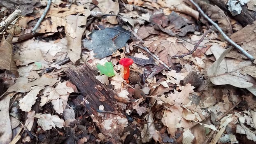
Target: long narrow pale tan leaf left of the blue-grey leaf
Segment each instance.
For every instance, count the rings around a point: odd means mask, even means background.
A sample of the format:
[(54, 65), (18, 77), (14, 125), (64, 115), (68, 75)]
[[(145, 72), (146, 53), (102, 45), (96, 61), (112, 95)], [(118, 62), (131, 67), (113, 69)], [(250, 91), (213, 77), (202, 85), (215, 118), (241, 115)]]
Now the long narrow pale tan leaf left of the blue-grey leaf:
[(85, 25), (88, 16), (77, 14), (67, 17), (67, 24), (65, 26), (67, 53), (72, 63), (76, 63), (81, 58), (81, 38), (86, 28)]

